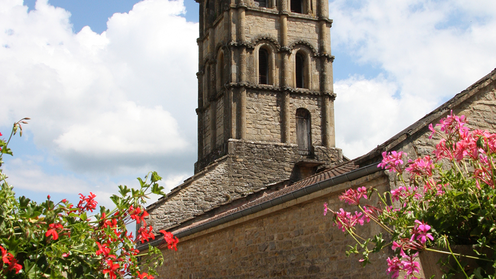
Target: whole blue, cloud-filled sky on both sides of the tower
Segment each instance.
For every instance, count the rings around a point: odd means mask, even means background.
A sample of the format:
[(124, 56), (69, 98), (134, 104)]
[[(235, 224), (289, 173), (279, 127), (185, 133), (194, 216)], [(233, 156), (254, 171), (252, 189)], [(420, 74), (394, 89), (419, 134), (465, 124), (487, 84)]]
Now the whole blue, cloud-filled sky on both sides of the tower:
[[(496, 67), (494, 0), (330, 0), (336, 146), (370, 151)], [(196, 161), (198, 4), (1, 0), (3, 172), (42, 201), (155, 170), (166, 190)], [(155, 197), (153, 197), (155, 198)]]

